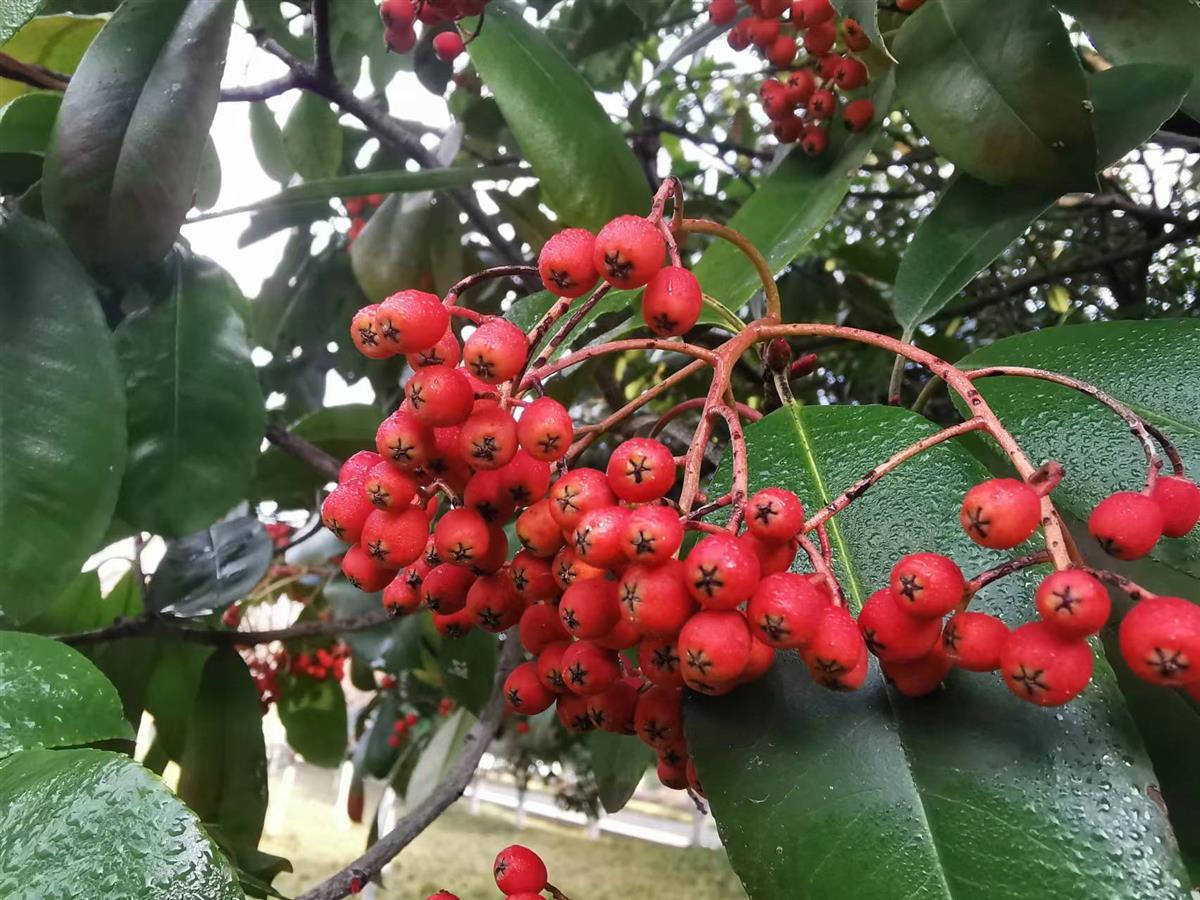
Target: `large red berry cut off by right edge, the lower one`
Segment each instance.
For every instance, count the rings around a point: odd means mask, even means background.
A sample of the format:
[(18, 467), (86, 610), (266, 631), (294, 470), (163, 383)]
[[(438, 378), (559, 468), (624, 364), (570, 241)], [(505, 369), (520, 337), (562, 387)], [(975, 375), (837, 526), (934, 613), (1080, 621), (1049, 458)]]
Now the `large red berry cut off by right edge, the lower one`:
[(1121, 655), (1153, 684), (1200, 683), (1200, 607), (1177, 596), (1140, 601), (1121, 622)]

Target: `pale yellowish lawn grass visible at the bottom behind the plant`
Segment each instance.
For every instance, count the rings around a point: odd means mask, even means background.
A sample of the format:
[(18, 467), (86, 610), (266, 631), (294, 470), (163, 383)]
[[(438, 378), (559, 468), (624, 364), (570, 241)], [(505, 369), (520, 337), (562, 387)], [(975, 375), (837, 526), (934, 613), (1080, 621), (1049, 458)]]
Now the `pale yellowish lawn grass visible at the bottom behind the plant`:
[[(294, 874), (284, 872), (275, 881), (283, 894), (293, 896), (312, 887), (362, 852), (367, 827), (341, 832), (331, 818), (328, 802), (298, 791), (288, 806), (288, 830), (263, 838), (262, 850), (286, 856), (295, 866)], [(541, 854), (550, 880), (571, 900), (745, 896), (724, 851), (676, 850), (607, 834), (593, 841), (582, 828), (534, 817), (518, 832), (511, 814), (485, 804), (478, 816), (463, 808), (450, 809), (406, 847), (385, 878), (380, 900), (421, 900), (439, 888), (461, 900), (496, 900), (492, 859), (510, 844), (524, 844)]]

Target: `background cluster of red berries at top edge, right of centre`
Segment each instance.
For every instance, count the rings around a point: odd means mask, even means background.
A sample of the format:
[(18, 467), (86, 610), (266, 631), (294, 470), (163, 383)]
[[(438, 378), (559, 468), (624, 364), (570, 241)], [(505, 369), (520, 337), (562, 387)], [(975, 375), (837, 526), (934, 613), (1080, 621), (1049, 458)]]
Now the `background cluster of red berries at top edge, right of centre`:
[[(863, 131), (875, 118), (869, 97), (854, 97), (870, 82), (866, 64), (857, 55), (870, 48), (863, 26), (852, 18), (838, 23), (829, 0), (746, 0), (752, 16), (730, 29), (730, 47), (755, 47), (778, 77), (762, 83), (758, 97), (781, 144), (799, 142), (809, 156), (829, 145), (829, 122), (841, 106), (841, 120)], [(738, 17), (738, 0), (710, 0), (708, 14), (716, 25)], [(803, 48), (804, 55), (798, 56)]]

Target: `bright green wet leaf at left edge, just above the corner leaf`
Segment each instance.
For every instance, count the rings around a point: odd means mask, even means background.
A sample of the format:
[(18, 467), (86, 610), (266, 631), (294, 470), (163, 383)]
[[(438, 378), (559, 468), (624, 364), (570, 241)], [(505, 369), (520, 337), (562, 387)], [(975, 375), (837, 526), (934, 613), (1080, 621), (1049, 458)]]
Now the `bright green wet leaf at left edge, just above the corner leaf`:
[(116, 689), (86, 656), (48, 637), (0, 631), (0, 758), (131, 737)]

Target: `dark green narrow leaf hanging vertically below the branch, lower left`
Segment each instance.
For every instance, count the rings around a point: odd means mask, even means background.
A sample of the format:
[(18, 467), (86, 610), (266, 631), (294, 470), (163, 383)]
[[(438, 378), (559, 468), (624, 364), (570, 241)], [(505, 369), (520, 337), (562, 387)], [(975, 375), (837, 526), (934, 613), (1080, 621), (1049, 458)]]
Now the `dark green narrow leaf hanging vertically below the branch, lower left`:
[(250, 670), (232, 647), (204, 664), (179, 768), (179, 798), (217, 826), (234, 850), (257, 847), (266, 816), (263, 709)]

